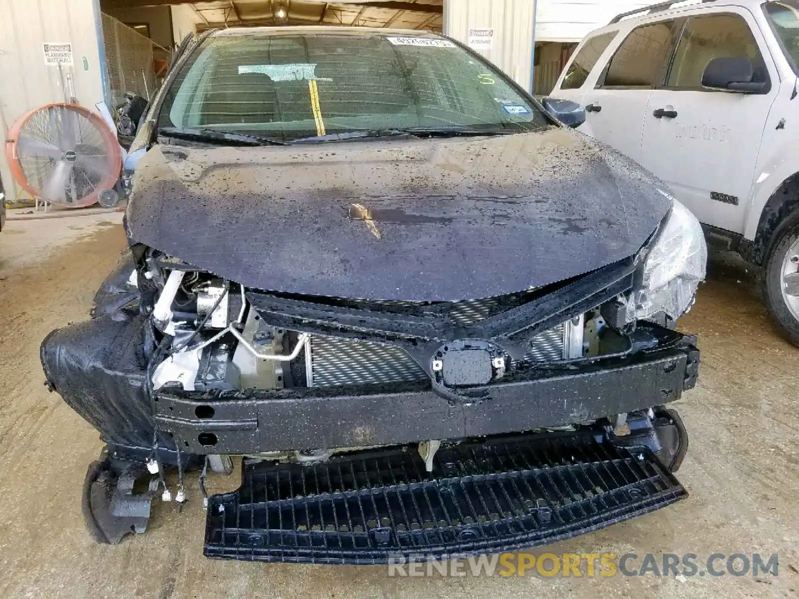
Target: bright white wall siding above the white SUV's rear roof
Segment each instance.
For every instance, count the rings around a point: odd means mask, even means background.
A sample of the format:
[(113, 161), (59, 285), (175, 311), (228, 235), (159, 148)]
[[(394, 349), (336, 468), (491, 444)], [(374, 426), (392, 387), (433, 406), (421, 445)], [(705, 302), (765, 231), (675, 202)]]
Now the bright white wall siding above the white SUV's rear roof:
[(538, 0), (535, 14), (537, 42), (579, 42), (627, 10), (650, 6), (657, 0)]

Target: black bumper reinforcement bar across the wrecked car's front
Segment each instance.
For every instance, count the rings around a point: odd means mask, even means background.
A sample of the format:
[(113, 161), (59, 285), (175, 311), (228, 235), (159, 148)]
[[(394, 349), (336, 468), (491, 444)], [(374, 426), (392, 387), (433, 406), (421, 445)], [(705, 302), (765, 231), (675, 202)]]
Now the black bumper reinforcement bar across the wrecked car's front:
[[(678, 334), (675, 334), (678, 335)], [(509, 434), (587, 422), (674, 402), (694, 386), (699, 351), (674, 347), (631, 359), (539, 372), (483, 387), (473, 403), (431, 391), (345, 387), (191, 392), (164, 387), (157, 430), (193, 454), (256, 454)]]

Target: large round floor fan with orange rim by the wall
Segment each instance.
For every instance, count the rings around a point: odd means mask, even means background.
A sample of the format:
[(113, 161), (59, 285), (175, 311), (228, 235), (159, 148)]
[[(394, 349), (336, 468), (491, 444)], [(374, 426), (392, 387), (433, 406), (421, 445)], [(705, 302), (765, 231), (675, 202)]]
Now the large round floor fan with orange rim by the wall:
[(116, 204), (117, 137), (82, 106), (49, 104), (23, 115), (9, 129), (6, 158), (31, 196), (69, 208)]

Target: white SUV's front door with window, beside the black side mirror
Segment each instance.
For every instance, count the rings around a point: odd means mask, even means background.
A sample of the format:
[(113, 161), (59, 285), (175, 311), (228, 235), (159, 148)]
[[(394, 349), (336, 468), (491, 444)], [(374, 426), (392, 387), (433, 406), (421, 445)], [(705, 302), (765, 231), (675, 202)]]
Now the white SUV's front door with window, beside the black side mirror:
[[(757, 152), (777, 97), (776, 66), (745, 9), (694, 14), (682, 28), (664, 85), (650, 93), (640, 162), (702, 222), (743, 232)], [(713, 58), (745, 56), (764, 93), (703, 89)]]

